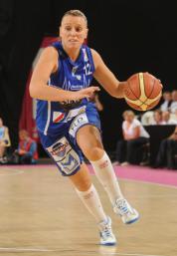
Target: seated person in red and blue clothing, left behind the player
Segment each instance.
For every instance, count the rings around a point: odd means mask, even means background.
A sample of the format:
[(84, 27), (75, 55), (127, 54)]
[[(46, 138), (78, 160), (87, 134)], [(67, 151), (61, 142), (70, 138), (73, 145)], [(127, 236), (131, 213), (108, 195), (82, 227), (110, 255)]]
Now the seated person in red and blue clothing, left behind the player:
[(33, 140), (26, 129), (19, 131), (19, 145), (15, 150), (15, 162), (22, 164), (36, 163), (38, 159), (37, 143)]

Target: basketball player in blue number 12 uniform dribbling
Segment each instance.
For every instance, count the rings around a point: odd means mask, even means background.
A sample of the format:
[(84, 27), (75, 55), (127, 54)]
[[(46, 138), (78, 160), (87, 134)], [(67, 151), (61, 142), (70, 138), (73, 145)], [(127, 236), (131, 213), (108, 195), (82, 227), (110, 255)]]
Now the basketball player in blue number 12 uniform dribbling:
[(60, 26), (61, 42), (46, 48), (34, 70), (31, 97), (38, 99), (37, 127), (41, 142), (64, 176), (68, 176), (89, 212), (95, 218), (101, 245), (114, 245), (111, 219), (101, 205), (89, 177), (83, 154), (89, 159), (104, 187), (113, 211), (126, 224), (139, 214), (123, 197), (100, 137), (100, 123), (89, 97), (99, 91), (89, 87), (92, 77), (113, 97), (123, 98), (126, 83), (120, 83), (99, 54), (84, 45), (88, 22), (84, 13), (71, 10)]

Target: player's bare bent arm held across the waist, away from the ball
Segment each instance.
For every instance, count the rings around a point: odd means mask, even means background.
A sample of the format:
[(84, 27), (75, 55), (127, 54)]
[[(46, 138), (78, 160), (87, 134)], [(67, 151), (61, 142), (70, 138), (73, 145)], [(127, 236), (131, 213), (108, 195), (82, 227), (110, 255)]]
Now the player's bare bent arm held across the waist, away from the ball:
[(58, 69), (58, 58), (58, 52), (54, 47), (48, 47), (43, 51), (30, 83), (30, 96), (32, 98), (51, 102), (78, 101), (90, 97), (95, 91), (99, 91), (97, 87), (71, 92), (48, 86), (51, 74)]

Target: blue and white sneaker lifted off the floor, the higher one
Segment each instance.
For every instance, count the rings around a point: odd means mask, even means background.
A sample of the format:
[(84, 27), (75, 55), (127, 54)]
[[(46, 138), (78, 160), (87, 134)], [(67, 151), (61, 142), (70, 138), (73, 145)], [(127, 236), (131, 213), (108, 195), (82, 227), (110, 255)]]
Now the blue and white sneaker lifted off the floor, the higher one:
[(139, 219), (139, 213), (124, 198), (115, 201), (113, 211), (121, 217), (124, 224), (131, 224)]

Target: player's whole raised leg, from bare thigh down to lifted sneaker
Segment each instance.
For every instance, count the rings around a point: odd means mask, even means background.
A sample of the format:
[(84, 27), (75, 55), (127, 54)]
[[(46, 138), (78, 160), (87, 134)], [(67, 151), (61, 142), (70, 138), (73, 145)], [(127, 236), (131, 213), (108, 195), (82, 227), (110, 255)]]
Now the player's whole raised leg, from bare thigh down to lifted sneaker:
[(124, 223), (136, 221), (139, 215), (122, 196), (111, 161), (103, 149), (99, 130), (90, 125), (80, 128), (77, 133), (77, 142), (107, 192), (113, 210), (121, 216)]

